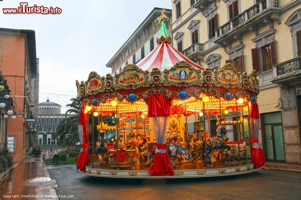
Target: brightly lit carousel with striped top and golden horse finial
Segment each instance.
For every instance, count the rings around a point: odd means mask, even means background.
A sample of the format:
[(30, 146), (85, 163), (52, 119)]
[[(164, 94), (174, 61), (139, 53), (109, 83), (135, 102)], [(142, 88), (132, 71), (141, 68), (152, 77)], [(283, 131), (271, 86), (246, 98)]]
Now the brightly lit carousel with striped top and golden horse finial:
[[(76, 81), (81, 110), (77, 169), (115, 178), (225, 176), (261, 169), (265, 158), (258, 144), (256, 72), (239, 73), (230, 63), (204, 69), (170, 45), (161, 20), (156, 20), (161, 25), (158, 46), (139, 63), (126, 65), (115, 76), (92, 71), (87, 81)], [(229, 110), (236, 120), (226, 121)], [(195, 117), (193, 133), (188, 133), (190, 115)], [(209, 115), (217, 120), (214, 135), (206, 130)], [(116, 123), (106, 124), (106, 116)], [(226, 126), (237, 129), (236, 141), (228, 141)], [(116, 133), (112, 139), (109, 131)]]

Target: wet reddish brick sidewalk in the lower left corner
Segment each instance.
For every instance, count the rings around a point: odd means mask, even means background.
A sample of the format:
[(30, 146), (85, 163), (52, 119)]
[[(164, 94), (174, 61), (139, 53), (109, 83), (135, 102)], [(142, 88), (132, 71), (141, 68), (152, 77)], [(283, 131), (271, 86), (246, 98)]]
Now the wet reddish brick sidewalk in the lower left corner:
[(20, 163), (0, 182), (0, 199), (57, 199), (44, 165), (42, 158)]

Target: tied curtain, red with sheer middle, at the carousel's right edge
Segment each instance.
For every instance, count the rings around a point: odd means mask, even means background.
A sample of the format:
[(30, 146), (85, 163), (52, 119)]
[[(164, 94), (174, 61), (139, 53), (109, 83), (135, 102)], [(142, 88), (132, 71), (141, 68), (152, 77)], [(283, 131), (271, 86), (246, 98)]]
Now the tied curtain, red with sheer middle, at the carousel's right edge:
[(250, 129), (252, 139), (250, 142), (252, 143), (252, 153), (251, 160), (256, 167), (261, 167), (265, 163), (265, 156), (262, 149), (259, 147), (259, 109), (258, 104), (251, 103), (251, 112), (250, 112)]

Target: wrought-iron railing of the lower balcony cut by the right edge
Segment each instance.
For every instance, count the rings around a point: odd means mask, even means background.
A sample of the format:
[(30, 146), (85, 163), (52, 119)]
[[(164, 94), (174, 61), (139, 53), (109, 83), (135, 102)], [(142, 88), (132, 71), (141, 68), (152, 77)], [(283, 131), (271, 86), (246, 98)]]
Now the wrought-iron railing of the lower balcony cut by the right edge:
[(301, 70), (301, 56), (276, 65), (277, 76)]

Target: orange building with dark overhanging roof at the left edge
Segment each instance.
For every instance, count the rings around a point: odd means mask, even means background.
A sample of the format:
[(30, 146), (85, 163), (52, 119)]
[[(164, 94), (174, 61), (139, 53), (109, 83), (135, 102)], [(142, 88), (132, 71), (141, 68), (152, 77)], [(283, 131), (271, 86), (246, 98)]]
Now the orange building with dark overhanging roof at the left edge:
[(0, 28), (0, 68), (17, 104), (16, 119), (8, 117), (6, 127), (15, 162), (22, 162), (29, 151), (29, 123), (23, 119), (33, 118), (30, 91), (39, 87), (39, 83), (31, 84), (37, 75), (36, 61), (35, 31)]

